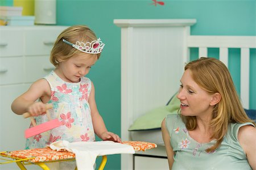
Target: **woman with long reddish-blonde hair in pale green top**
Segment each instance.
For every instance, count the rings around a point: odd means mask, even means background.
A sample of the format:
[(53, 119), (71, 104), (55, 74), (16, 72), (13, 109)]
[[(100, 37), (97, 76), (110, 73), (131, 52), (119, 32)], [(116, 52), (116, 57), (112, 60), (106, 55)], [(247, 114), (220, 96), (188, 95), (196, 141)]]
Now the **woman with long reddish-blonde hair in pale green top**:
[(256, 169), (255, 122), (224, 63), (189, 62), (180, 83), (180, 113), (162, 122), (170, 169)]

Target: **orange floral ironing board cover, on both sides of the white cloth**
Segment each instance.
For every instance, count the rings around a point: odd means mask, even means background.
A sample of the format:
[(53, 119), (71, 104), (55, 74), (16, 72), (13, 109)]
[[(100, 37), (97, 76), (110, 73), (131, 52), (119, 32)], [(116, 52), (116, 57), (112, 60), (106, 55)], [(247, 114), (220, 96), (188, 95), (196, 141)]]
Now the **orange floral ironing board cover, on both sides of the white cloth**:
[[(133, 146), (135, 151), (145, 151), (151, 148), (157, 147), (155, 143), (141, 142), (141, 141), (123, 141), (123, 144)], [(55, 151), (49, 147), (46, 148), (35, 148), (31, 150), (19, 150), (11, 152), (3, 152), (1, 155), (12, 156), (14, 158), (26, 159), (26, 162), (36, 163), (36, 162), (49, 162), (55, 160), (67, 160), (75, 159), (75, 154), (67, 151)]]

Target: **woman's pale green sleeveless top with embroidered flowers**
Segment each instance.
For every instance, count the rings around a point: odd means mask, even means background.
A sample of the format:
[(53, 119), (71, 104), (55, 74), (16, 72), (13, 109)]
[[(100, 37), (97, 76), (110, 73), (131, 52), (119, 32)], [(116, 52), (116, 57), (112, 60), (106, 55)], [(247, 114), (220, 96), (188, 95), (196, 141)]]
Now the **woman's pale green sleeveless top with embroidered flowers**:
[(208, 153), (205, 150), (212, 147), (216, 140), (209, 143), (196, 142), (189, 136), (181, 117), (178, 114), (168, 114), (166, 127), (175, 152), (172, 170), (251, 169), (237, 138), (238, 130), (245, 125), (253, 124), (230, 124), (221, 146)]

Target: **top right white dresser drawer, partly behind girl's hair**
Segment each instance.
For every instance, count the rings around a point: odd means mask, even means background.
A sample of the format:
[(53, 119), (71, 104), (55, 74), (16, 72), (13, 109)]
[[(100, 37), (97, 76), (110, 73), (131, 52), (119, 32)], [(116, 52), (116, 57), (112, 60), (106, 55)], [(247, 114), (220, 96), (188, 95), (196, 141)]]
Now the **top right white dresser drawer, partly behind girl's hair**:
[(31, 27), (24, 30), (25, 56), (49, 55), (52, 46), (65, 27)]

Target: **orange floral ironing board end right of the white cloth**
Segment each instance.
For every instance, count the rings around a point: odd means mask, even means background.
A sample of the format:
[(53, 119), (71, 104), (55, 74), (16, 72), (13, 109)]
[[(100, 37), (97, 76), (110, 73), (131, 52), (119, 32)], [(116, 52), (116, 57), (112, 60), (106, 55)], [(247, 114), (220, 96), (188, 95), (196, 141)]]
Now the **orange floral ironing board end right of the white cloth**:
[(123, 141), (123, 144), (133, 146), (134, 151), (145, 151), (157, 147), (155, 143), (142, 142), (142, 141)]

